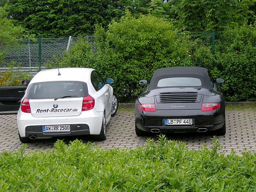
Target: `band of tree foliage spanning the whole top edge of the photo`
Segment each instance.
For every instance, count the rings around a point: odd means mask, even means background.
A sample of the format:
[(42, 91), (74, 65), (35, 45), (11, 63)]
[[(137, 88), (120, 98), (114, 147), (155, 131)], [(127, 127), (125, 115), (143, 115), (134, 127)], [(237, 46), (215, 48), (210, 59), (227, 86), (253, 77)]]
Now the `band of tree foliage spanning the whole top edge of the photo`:
[[(223, 30), (255, 22), (256, 0), (8, 0), (9, 18), (35, 35), (92, 35), (128, 10), (175, 21), (186, 31)], [(0, 0), (3, 6), (6, 0)]]

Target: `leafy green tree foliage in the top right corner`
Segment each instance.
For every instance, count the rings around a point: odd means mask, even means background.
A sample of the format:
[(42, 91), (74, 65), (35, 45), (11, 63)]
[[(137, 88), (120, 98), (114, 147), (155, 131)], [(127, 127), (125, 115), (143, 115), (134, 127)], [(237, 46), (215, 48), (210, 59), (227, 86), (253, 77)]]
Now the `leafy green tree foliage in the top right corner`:
[(221, 31), (255, 22), (255, 0), (175, 0), (177, 26), (187, 31)]

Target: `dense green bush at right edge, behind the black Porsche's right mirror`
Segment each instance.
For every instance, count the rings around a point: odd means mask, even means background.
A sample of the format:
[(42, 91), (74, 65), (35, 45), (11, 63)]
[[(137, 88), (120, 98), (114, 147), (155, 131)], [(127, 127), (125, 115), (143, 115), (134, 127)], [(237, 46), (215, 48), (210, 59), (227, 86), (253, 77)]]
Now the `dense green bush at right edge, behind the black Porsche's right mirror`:
[(256, 28), (224, 32), (215, 49), (222, 90), (228, 101), (256, 101)]

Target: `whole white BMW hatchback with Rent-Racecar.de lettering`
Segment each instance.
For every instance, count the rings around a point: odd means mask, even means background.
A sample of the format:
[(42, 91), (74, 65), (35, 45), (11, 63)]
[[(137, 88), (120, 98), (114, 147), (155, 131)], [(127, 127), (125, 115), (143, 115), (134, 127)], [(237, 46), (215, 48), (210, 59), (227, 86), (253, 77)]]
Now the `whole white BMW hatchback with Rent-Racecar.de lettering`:
[(17, 114), (20, 141), (77, 135), (105, 140), (106, 125), (118, 108), (111, 83), (90, 68), (40, 71), (29, 82)]

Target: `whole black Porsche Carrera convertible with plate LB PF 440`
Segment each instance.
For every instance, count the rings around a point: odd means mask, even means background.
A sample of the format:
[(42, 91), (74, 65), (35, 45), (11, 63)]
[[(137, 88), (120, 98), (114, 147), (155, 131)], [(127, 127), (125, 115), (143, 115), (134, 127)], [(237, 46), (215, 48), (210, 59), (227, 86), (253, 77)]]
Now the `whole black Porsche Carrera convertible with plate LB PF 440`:
[(135, 103), (135, 131), (226, 134), (225, 100), (220, 85), (203, 67), (166, 67), (154, 72)]

